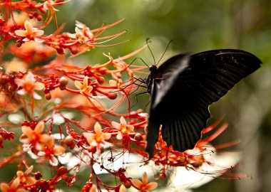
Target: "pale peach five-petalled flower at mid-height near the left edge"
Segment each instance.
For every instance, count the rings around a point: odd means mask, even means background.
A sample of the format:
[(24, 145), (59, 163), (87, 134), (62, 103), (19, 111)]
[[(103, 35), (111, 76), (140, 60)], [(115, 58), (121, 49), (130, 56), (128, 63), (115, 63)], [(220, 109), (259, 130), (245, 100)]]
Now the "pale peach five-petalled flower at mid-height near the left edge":
[(19, 95), (26, 95), (26, 93), (29, 93), (34, 99), (41, 100), (41, 96), (34, 92), (34, 90), (43, 90), (44, 83), (36, 82), (32, 73), (25, 75), (24, 79), (16, 78), (15, 82), (19, 87), (22, 87), (21, 90), (17, 91)]

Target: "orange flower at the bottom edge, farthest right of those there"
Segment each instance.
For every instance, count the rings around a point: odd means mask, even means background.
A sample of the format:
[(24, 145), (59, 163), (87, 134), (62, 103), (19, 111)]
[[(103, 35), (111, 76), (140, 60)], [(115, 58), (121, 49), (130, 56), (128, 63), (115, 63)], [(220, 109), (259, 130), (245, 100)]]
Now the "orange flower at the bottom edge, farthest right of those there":
[(142, 176), (142, 182), (140, 180), (134, 178), (132, 180), (132, 184), (140, 192), (152, 191), (153, 189), (157, 188), (157, 186), (158, 186), (158, 183), (156, 183), (156, 182), (148, 183), (148, 175), (146, 172), (144, 172), (144, 174)]

